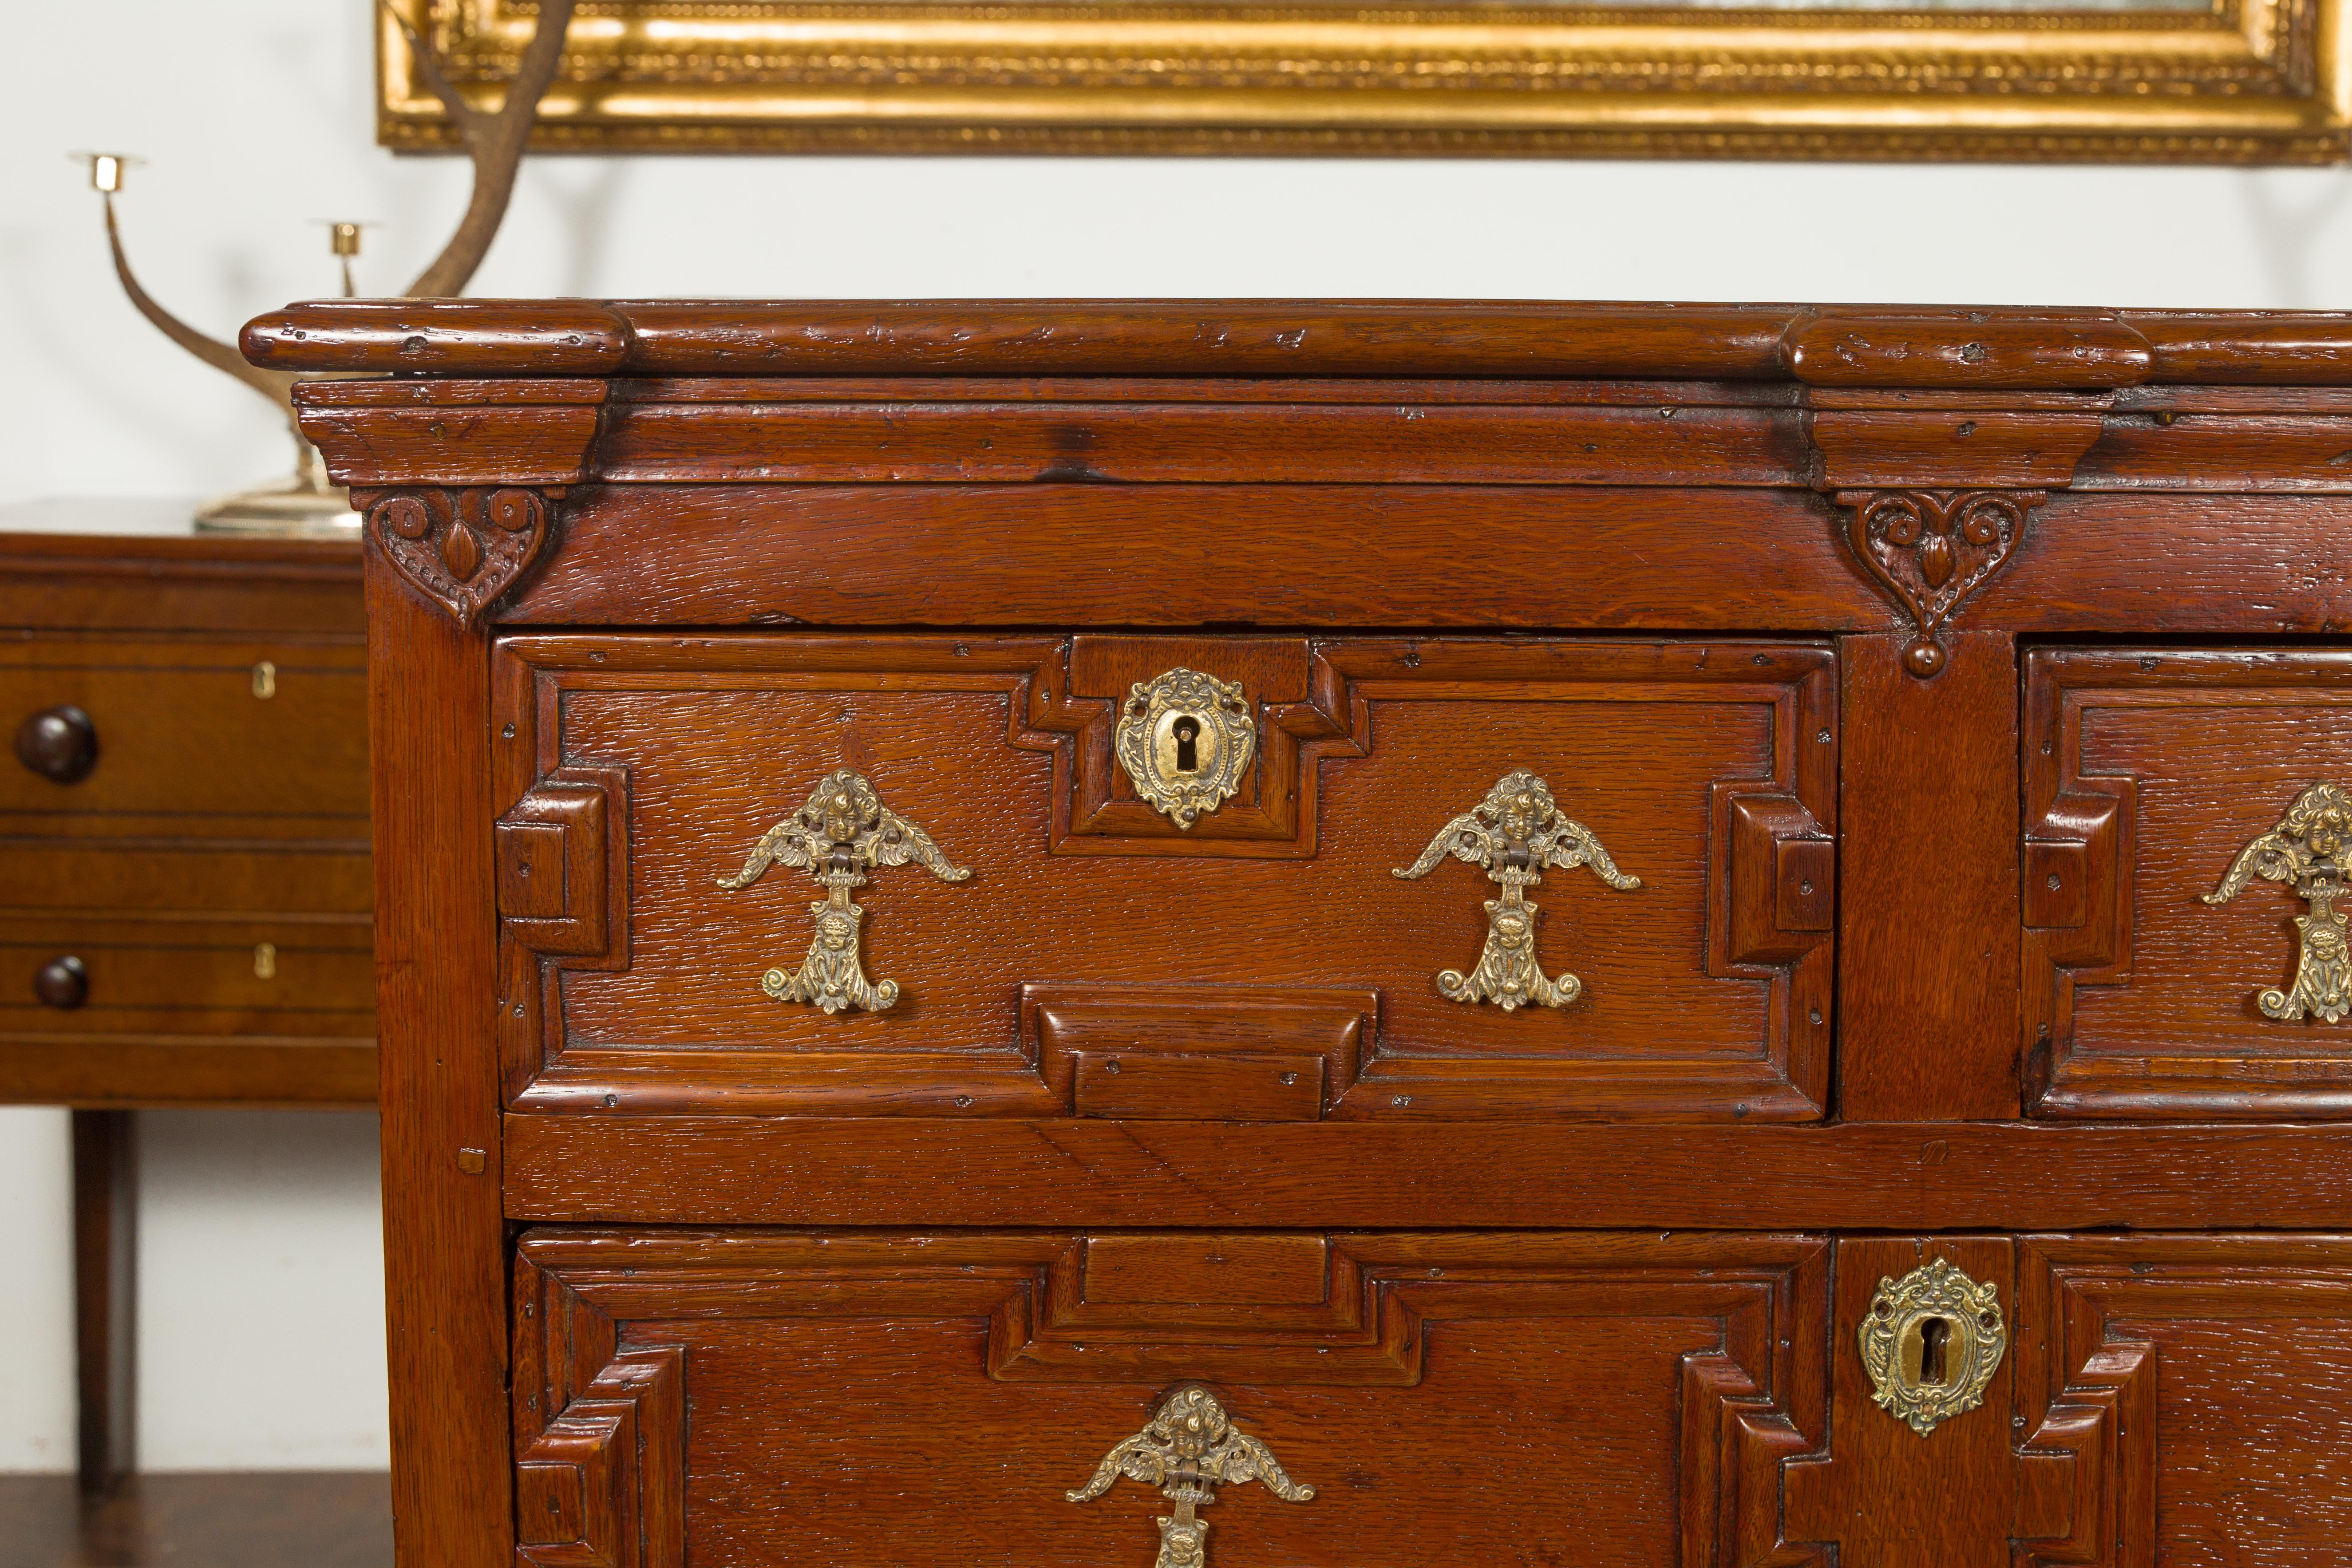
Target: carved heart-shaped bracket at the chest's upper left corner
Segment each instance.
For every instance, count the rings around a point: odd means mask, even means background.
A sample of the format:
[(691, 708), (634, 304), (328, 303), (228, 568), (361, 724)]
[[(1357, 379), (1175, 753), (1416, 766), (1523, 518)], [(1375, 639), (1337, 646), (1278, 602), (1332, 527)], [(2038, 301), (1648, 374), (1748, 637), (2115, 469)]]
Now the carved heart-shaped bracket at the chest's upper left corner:
[(562, 487), (477, 484), (360, 491), (353, 501), (393, 571), (470, 630), (546, 555), (562, 496)]

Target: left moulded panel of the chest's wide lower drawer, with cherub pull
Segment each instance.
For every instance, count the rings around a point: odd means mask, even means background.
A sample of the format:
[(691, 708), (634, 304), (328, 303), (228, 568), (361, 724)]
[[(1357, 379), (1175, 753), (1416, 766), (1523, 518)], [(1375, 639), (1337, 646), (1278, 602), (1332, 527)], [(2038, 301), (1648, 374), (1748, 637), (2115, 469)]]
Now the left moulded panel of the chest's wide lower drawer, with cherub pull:
[(1825, 1432), (1804, 1237), (534, 1232), (515, 1288), (546, 1566), (1755, 1561)]

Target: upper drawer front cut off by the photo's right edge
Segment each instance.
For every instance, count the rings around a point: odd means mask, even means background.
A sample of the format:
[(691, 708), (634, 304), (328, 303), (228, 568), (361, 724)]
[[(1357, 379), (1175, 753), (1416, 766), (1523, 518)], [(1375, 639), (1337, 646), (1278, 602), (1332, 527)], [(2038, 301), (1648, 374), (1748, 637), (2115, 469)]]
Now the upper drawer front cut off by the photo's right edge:
[(2039, 649), (2023, 743), (2034, 1114), (2352, 1114), (2352, 654)]

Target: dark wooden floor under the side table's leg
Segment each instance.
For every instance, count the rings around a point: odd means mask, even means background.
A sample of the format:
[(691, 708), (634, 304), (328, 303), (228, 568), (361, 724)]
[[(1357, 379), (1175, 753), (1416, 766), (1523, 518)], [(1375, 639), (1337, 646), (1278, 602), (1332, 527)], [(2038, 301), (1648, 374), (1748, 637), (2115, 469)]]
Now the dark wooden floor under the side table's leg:
[(390, 1568), (381, 1472), (134, 1476), (80, 1502), (73, 1476), (0, 1476), (0, 1568)]

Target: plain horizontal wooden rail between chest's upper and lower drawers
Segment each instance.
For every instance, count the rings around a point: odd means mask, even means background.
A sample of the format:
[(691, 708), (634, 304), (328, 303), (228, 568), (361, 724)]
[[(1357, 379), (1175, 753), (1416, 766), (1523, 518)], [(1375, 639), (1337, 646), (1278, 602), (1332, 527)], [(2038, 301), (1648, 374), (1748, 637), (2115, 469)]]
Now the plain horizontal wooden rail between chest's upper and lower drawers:
[(506, 1119), (508, 1215), (647, 1225), (2352, 1229), (2345, 1126)]

